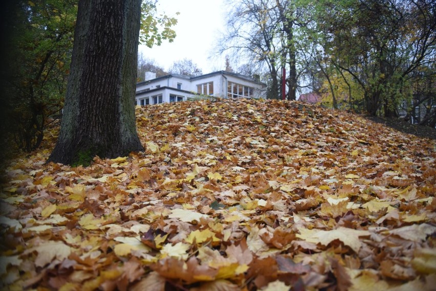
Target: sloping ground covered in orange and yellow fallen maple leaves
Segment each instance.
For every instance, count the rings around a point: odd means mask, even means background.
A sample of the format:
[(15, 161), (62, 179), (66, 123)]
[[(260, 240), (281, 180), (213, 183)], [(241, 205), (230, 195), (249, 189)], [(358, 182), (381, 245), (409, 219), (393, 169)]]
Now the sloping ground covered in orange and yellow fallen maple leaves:
[(3, 289), (434, 290), (434, 140), (282, 101), (137, 123), (145, 152), (45, 165), (53, 129), (13, 161)]

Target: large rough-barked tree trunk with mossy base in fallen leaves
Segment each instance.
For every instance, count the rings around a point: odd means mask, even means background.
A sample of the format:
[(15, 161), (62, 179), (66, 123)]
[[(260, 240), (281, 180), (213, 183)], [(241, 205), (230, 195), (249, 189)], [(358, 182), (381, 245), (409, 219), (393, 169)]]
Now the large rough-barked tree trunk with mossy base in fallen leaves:
[(89, 164), (141, 151), (135, 86), (141, 0), (79, 2), (71, 73), (48, 162)]

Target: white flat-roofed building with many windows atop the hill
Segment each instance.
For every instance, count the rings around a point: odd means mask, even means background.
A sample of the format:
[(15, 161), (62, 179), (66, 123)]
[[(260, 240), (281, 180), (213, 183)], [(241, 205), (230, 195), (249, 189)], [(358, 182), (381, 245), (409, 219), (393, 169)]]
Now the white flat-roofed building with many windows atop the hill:
[(156, 73), (146, 72), (145, 81), (136, 84), (137, 105), (185, 101), (197, 95), (266, 98), (266, 84), (226, 71), (197, 77), (169, 74), (159, 78), (156, 78)]

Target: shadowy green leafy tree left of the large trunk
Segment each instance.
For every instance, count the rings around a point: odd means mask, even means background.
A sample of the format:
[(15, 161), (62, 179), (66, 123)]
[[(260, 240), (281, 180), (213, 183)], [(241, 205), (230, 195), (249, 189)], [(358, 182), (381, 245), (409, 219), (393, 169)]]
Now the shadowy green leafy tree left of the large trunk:
[(63, 106), (77, 1), (17, 1), (9, 8), (14, 19), (6, 24), (11, 34), (3, 44), (3, 124), (19, 148), (32, 151)]

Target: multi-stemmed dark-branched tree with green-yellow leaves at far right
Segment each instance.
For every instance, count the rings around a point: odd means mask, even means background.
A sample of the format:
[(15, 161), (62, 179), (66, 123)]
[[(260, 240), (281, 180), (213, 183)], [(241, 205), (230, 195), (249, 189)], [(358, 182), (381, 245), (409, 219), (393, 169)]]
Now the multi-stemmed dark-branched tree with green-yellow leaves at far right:
[(325, 50), (364, 94), (370, 115), (398, 115), (413, 72), (435, 62), (434, 1), (352, 0), (318, 2), (326, 26)]

